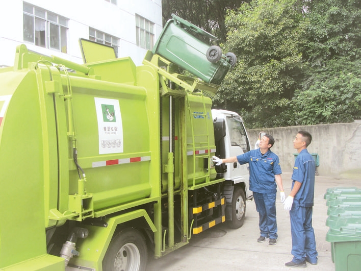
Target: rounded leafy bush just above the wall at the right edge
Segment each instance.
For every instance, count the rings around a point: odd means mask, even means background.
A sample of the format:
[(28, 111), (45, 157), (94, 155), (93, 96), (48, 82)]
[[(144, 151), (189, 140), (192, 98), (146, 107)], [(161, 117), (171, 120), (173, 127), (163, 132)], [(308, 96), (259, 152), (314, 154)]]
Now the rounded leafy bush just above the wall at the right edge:
[(341, 58), (327, 62), (295, 93), (297, 125), (352, 122), (361, 118), (361, 62)]

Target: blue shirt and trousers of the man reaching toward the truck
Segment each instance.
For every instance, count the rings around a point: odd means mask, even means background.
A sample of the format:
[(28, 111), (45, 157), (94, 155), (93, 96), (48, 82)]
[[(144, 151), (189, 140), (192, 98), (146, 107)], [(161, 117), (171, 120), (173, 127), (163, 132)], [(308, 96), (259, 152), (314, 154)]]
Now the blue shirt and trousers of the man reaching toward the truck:
[(277, 239), (275, 175), (282, 174), (279, 159), (268, 150), (262, 154), (260, 149), (251, 150), (237, 156), (238, 162), (249, 164), (249, 190), (253, 191), (256, 210), (259, 213), (261, 236)]

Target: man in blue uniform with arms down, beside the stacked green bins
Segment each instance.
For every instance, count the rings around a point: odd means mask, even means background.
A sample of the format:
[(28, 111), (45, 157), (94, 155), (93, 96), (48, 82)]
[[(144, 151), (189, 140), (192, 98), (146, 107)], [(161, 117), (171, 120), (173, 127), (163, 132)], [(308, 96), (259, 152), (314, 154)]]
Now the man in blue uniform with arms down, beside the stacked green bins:
[(315, 194), (316, 163), (308, 153), (312, 136), (306, 131), (299, 131), (293, 141), (298, 155), (292, 173), (291, 193), (283, 202), (290, 211), (293, 259), (285, 263), (288, 267), (306, 267), (306, 262), (317, 264), (316, 239), (312, 227), (312, 211)]

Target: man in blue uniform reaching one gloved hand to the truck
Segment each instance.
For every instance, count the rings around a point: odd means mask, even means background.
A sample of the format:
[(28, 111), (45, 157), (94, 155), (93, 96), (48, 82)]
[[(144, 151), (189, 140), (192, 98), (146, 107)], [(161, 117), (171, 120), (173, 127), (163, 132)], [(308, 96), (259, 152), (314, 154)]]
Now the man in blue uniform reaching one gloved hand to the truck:
[(249, 190), (253, 191), (256, 210), (259, 213), (259, 227), (261, 236), (258, 242), (269, 238), (269, 244), (277, 243), (276, 196), (277, 185), (280, 189), (280, 199), (286, 198), (283, 191), (281, 167), (279, 159), (270, 149), (274, 144), (271, 135), (264, 135), (259, 144), (259, 149), (251, 150), (235, 157), (220, 159), (213, 156), (216, 165), (222, 163), (239, 162), (241, 165), (249, 164)]

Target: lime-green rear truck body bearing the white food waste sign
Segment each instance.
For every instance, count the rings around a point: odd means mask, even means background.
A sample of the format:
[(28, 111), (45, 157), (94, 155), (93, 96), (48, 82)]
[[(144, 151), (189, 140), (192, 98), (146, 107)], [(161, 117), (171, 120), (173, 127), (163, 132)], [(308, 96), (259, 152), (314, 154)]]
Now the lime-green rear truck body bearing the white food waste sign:
[(50, 65), (60, 59), (24, 45), (17, 53), (18, 71), (0, 71), (0, 267), (43, 257), (46, 227), (146, 203), (154, 205), (148, 223), (160, 255), (158, 73), (130, 58), (90, 68), (65, 61), (76, 69), (68, 73)]

